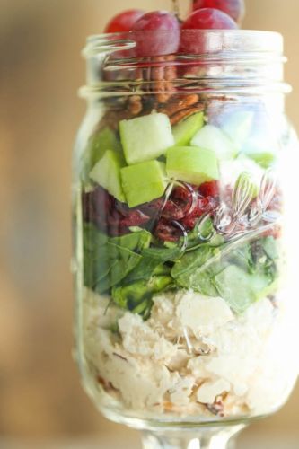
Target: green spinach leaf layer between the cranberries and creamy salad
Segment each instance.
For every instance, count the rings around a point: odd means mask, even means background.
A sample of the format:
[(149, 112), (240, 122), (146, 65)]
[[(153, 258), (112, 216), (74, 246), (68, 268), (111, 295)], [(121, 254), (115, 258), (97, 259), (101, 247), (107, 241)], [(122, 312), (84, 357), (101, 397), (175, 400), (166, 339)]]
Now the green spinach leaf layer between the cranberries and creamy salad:
[[(208, 221), (202, 233), (209, 233)], [(234, 313), (243, 313), (277, 289), (277, 241), (224, 242), (215, 235), (198, 242), (189, 233), (184, 250), (154, 246), (152, 234), (137, 229), (122, 237), (107, 237), (94, 225), (84, 225), (84, 284), (111, 295), (119, 307), (150, 316), (153, 295), (193, 289), (221, 296)]]

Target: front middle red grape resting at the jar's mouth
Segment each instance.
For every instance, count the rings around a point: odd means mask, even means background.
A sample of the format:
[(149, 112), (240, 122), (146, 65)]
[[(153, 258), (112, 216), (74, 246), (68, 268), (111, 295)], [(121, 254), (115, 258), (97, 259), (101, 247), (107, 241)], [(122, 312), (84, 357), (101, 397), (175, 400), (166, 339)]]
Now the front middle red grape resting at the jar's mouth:
[(147, 13), (133, 25), (132, 31), (137, 31), (134, 40), (138, 57), (171, 55), (180, 45), (180, 23), (171, 13)]

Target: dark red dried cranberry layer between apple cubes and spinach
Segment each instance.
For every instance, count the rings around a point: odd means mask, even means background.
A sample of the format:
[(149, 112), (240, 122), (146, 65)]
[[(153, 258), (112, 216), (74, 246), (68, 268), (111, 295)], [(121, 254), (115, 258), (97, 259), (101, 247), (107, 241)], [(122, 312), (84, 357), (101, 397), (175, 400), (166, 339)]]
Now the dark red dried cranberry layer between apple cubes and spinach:
[[(225, 196), (227, 204), (231, 196), (232, 192), (227, 191)], [(100, 186), (83, 194), (85, 222), (93, 223), (111, 236), (129, 233), (131, 226), (142, 226), (150, 230), (155, 226), (154, 235), (167, 242), (176, 242), (180, 239), (182, 236), (180, 226), (187, 232), (191, 231), (201, 216), (205, 214), (213, 216), (218, 206), (218, 181), (205, 182), (199, 188), (197, 186), (176, 187), (165, 204), (164, 198), (158, 198), (135, 208), (129, 208), (128, 205), (119, 202)], [(277, 212), (282, 210), (280, 191), (277, 190), (268, 210)], [(177, 225), (174, 222), (177, 222)], [(278, 238), (280, 232), (280, 226), (273, 225), (264, 235)]]

